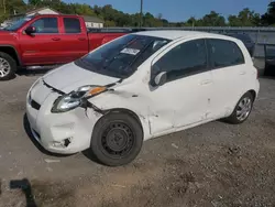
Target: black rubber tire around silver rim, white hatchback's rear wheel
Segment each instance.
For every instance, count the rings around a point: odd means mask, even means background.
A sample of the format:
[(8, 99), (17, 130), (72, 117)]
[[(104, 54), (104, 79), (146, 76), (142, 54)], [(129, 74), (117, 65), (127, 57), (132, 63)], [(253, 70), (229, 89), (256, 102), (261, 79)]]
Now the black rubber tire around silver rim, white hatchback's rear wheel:
[[(246, 98), (250, 99), (250, 101), (251, 101), (251, 108), (250, 108), (250, 111), (249, 111), (248, 116), (246, 116), (243, 120), (240, 120), (240, 119), (238, 119), (237, 111), (238, 111), (238, 109), (239, 109), (239, 105), (241, 103), (241, 101), (243, 101), (243, 100), (246, 99)], [(232, 124), (240, 124), (240, 123), (243, 123), (243, 122), (250, 117), (250, 113), (251, 113), (252, 108), (253, 108), (253, 102), (254, 102), (254, 97), (253, 97), (253, 95), (252, 95), (251, 92), (244, 94), (244, 95), (242, 96), (242, 98), (240, 98), (240, 100), (238, 101), (238, 103), (237, 103), (237, 106), (235, 106), (235, 108), (234, 108), (234, 111), (231, 113), (230, 117), (228, 117), (228, 118), (226, 119), (226, 121), (229, 122), (229, 123), (232, 123)]]

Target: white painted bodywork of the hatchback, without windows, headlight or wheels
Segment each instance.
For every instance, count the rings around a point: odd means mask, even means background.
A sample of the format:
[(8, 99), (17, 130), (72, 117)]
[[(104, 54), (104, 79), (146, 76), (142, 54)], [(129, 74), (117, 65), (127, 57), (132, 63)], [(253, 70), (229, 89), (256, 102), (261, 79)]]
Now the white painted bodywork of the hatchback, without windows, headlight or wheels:
[[(142, 124), (144, 140), (176, 132), (220, 119), (232, 113), (237, 102), (249, 90), (257, 95), (260, 85), (256, 69), (241, 41), (233, 37), (200, 32), (152, 31), (140, 35), (152, 35), (173, 40), (141, 64), (138, 70), (121, 83), (113, 78), (82, 69), (74, 63), (64, 65), (48, 74), (44, 81), (68, 94), (85, 85), (109, 85), (118, 83), (112, 91), (89, 99), (100, 110), (125, 109), (135, 113)], [(153, 88), (150, 85), (151, 66), (178, 44), (196, 39), (222, 39), (235, 42), (243, 52), (245, 64), (212, 69)], [(226, 92), (224, 92), (226, 91)], [(31, 107), (31, 98), (41, 103), (40, 110)], [(75, 153), (90, 145), (92, 130), (103, 116), (94, 108), (76, 108), (68, 112), (53, 113), (51, 109), (61, 96), (37, 80), (26, 99), (26, 115), (36, 140), (48, 151)], [(70, 139), (67, 148), (53, 146), (54, 142)]]

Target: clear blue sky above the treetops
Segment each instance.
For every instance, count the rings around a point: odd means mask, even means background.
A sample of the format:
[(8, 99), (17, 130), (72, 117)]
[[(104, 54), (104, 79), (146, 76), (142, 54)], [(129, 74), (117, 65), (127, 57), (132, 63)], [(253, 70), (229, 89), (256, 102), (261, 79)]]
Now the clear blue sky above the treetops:
[[(65, 0), (76, 2), (76, 0)], [(140, 0), (77, 0), (80, 3), (91, 6), (111, 4), (114, 9), (135, 13), (140, 11)], [(201, 18), (211, 10), (228, 18), (230, 14), (238, 14), (243, 8), (250, 8), (257, 13), (265, 13), (270, 0), (143, 0), (144, 12), (154, 15), (163, 14), (169, 21), (186, 21), (190, 17)]]

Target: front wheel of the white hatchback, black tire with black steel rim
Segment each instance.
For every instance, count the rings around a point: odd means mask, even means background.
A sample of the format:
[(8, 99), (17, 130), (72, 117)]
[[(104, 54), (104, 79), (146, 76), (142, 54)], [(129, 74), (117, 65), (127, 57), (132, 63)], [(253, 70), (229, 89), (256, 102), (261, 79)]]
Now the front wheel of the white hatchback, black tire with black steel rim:
[(95, 126), (90, 151), (98, 161), (108, 166), (132, 162), (141, 151), (143, 130), (131, 115), (111, 112)]

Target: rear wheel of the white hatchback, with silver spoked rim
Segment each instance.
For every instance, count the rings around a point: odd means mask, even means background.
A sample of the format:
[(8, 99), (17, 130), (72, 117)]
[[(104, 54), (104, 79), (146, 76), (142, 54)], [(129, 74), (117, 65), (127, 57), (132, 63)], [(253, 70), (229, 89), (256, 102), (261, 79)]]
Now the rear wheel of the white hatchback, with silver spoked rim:
[(242, 98), (237, 103), (232, 115), (226, 120), (233, 124), (239, 124), (244, 122), (249, 118), (252, 111), (253, 101), (254, 98), (251, 92), (246, 92), (245, 95), (243, 95)]

